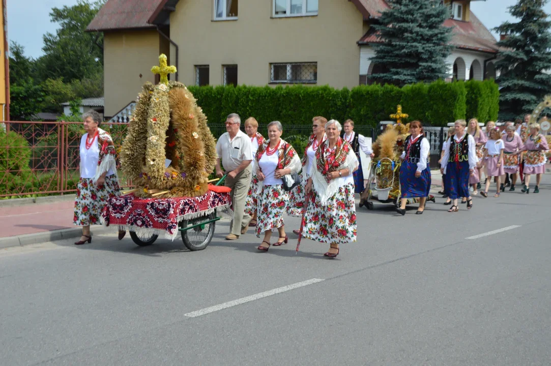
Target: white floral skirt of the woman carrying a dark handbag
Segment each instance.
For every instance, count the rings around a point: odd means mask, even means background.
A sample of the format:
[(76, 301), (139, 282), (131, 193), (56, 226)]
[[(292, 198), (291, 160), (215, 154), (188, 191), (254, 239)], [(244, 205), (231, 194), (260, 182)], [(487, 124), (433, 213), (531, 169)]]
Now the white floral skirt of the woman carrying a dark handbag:
[(258, 195), (257, 238), (266, 230), (274, 231), (285, 225), (283, 213), (288, 200), (289, 192), (285, 192), (281, 184), (262, 186), (262, 192)]

